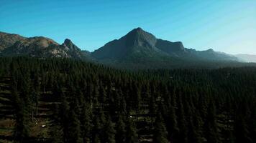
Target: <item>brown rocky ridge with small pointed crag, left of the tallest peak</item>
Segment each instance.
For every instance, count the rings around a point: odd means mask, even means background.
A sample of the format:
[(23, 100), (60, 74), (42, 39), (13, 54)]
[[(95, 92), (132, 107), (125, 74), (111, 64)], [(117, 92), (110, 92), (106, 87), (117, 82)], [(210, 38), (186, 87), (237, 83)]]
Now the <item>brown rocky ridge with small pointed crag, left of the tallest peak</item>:
[(70, 39), (65, 39), (63, 44), (58, 44), (52, 39), (43, 36), (27, 38), (4, 32), (0, 32), (0, 55), (27, 55), (40, 58), (66, 57), (75, 59), (86, 59), (90, 56), (86, 51), (81, 51)]

